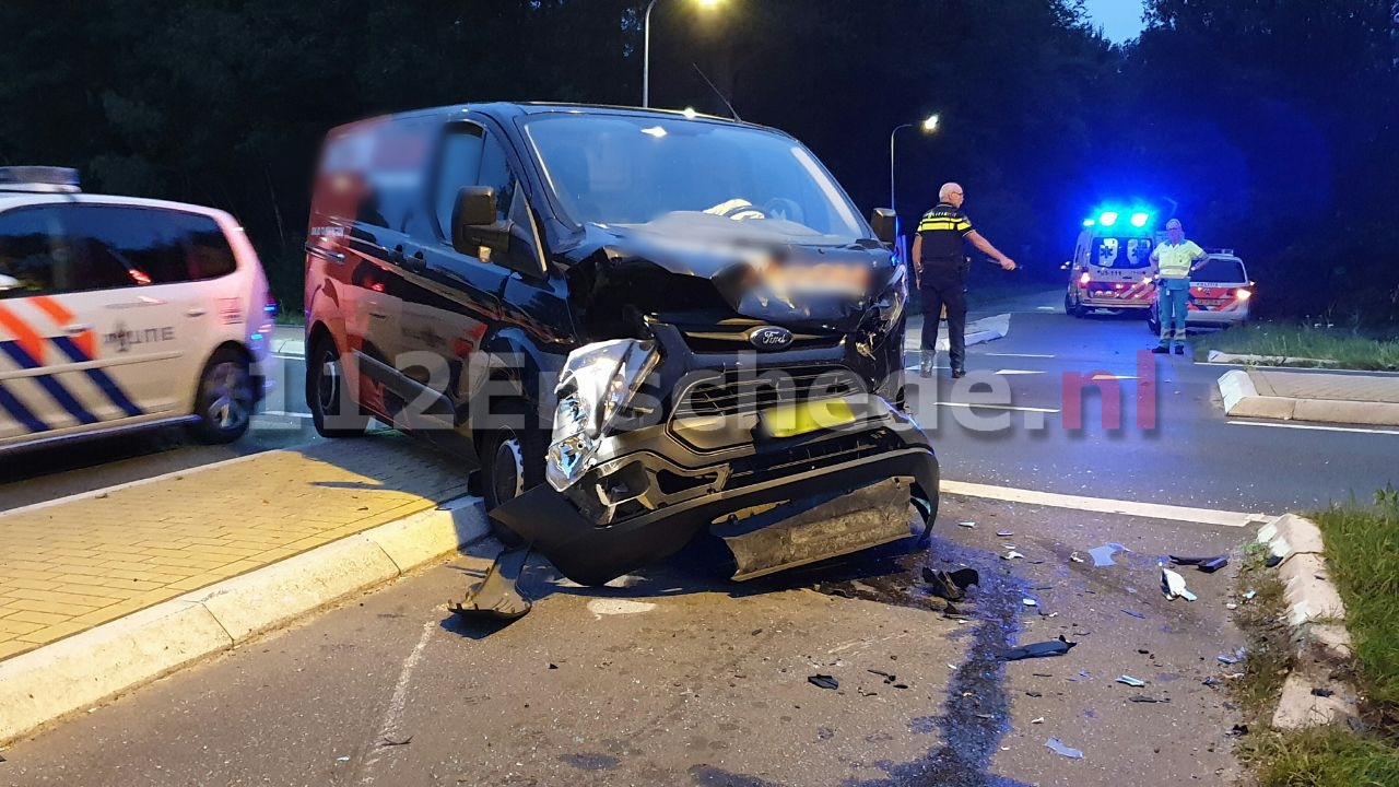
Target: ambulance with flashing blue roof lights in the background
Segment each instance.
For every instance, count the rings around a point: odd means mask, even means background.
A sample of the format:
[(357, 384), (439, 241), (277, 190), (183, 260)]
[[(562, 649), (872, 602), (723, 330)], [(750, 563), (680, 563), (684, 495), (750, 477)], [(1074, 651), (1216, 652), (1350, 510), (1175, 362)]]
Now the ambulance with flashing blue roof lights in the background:
[(1147, 210), (1102, 210), (1083, 221), (1073, 248), (1063, 311), (1087, 316), (1097, 309), (1146, 315), (1156, 301), (1151, 249), (1160, 239)]

